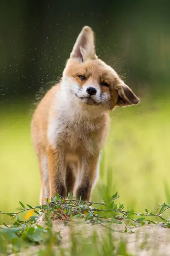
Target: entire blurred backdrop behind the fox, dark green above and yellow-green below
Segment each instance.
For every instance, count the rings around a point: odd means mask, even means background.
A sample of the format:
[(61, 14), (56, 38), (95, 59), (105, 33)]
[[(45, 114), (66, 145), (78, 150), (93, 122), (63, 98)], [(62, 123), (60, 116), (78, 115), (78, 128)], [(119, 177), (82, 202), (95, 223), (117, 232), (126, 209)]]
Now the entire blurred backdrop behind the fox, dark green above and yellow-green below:
[(92, 199), (118, 191), (125, 207), (136, 211), (170, 203), (169, 10), (168, 0), (1, 1), (1, 211), (15, 210), (19, 200), (39, 202), (30, 140), (34, 103), (61, 76), (85, 25), (95, 31), (97, 55), (141, 98), (140, 105), (111, 113)]

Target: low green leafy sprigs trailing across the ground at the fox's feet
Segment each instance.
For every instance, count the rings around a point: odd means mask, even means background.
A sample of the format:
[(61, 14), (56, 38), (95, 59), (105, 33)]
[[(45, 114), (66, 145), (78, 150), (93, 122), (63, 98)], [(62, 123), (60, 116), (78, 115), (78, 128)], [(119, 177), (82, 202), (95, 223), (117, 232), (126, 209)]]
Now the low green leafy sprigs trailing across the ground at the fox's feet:
[[(170, 205), (166, 203), (158, 205), (155, 213), (148, 212), (147, 209), (144, 213), (135, 213), (133, 210), (125, 211), (123, 204), (117, 205), (115, 201), (118, 197), (116, 192), (109, 202), (86, 202), (81, 198), (77, 200), (71, 194), (68, 194), (67, 198), (56, 194), (51, 201), (47, 200), (46, 204), (36, 207), (28, 204), (25, 207), (19, 202), (21, 207), (17, 208), (18, 212), (0, 212), (1, 215), (15, 218), (12, 224), (3, 223), (4, 225), (0, 227), (0, 252), (7, 250), (9, 244), (12, 245), (14, 252), (18, 252), (23, 243), (49, 244), (51, 239), (53, 243), (60, 243), (60, 232), (56, 233), (52, 230), (51, 216), (63, 220), (66, 225), (75, 219), (77, 221), (84, 219), (85, 223), (103, 225), (112, 231), (117, 230), (112, 229), (114, 225), (111, 224), (124, 223), (124, 228), (118, 232), (133, 233), (135, 226), (151, 223), (160, 223), (170, 228), (170, 220), (163, 216), (163, 213), (170, 209)], [(19, 215), (23, 212), (27, 212), (25, 220), (20, 220)], [(41, 217), (45, 219), (45, 227), (38, 224)]]

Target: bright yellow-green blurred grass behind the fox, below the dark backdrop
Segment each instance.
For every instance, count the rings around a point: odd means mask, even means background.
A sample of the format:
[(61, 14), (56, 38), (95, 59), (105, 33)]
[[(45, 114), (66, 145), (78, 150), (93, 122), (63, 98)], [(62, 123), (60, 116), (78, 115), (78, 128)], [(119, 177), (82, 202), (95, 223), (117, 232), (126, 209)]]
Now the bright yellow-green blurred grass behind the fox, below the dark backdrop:
[[(110, 134), (102, 151), (100, 179), (92, 200), (119, 191), (125, 208), (143, 212), (168, 200), (170, 187), (170, 103), (141, 102), (111, 113)], [(14, 211), (18, 201), (37, 205), (40, 174), (30, 140), (26, 106), (0, 113), (0, 210)], [(164, 184), (166, 182), (166, 193)]]

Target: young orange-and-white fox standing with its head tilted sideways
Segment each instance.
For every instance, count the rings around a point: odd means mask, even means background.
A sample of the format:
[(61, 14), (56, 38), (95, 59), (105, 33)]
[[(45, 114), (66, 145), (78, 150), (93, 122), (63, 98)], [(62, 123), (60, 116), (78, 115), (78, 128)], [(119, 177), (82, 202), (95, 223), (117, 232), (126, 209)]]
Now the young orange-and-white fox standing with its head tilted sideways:
[(31, 123), (41, 174), (40, 204), (57, 192), (90, 200), (109, 110), (137, 104), (138, 97), (95, 54), (92, 29), (82, 28), (61, 81), (37, 105)]

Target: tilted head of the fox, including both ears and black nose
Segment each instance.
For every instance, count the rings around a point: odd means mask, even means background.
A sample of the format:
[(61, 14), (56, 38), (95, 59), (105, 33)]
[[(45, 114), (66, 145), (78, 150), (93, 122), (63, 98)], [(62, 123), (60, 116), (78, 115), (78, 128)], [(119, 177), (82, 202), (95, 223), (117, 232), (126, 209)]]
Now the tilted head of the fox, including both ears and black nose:
[(138, 97), (115, 70), (97, 58), (94, 39), (90, 27), (82, 28), (63, 72), (62, 90), (85, 108), (107, 111), (138, 104)]

